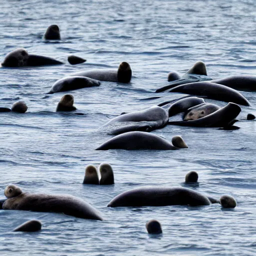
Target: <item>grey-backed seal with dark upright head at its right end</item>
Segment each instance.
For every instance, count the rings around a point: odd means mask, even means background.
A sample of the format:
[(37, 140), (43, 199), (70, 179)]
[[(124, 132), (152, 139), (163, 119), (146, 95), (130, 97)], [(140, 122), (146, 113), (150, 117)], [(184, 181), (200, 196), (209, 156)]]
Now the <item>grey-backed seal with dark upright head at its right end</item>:
[(112, 69), (89, 69), (72, 74), (74, 76), (86, 76), (99, 81), (127, 83), (131, 79), (131, 68), (127, 62), (121, 62), (118, 70)]

